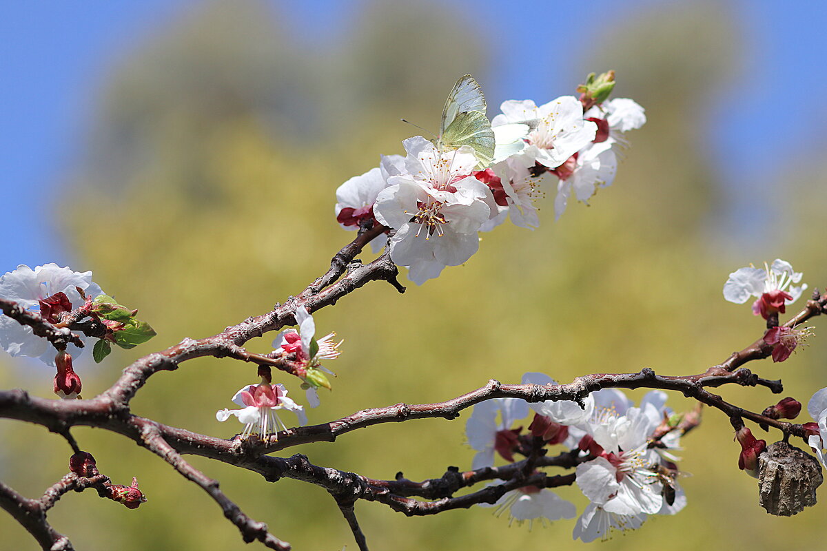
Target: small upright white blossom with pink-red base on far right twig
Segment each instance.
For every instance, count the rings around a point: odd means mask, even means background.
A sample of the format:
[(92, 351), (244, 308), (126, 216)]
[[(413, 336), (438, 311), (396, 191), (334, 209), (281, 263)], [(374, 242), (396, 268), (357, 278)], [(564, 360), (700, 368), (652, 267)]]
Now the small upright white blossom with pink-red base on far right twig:
[(793, 272), (790, 263), (775, 259), (769, 266), (764, 263), (763, 269), (750, 265), (730, 273), (724, 283), (724, 298), (743, 304), (749, 297), (757, 297), (758, 300), (753, 302), (753, 314), (766, 320), (773, 314), (785, 313), (786, 305), (801, 297), (807, 284), (791, 285), (800, 281), (801, 272)]

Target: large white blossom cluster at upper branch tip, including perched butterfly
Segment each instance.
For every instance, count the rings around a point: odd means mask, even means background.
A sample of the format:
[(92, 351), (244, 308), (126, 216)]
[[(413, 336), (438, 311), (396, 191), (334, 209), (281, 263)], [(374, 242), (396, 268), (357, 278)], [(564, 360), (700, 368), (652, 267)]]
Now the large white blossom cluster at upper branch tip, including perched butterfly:
[[(538, 227), (535, 203), (547, 188), (556, 186), (559, 217), (572, 196), (587, 202), (596, 188), (612, 183), (618, 150), (628, 145), (625, 133), (646, 122), (633, 100), (608, 100), (612, 88), (614, 73), (590, 75), (580, 97), (540, 106), (509, 100), (488, 121), (485, 97), (466, 75), (448, 97), (437, 140), (404, 140), (405, 156), (382, 156), (379, 167), (343, 183), (337, 221), (348, 230), (385, 226), (390, 241), (376, 237), (374, 250), (387, 241), (390, 258), (409, 268), (414, 283), (436, 278), (476, 253), (480, 231), (506, 218)], [(463, 137), (453, 136), (454, 126)]]

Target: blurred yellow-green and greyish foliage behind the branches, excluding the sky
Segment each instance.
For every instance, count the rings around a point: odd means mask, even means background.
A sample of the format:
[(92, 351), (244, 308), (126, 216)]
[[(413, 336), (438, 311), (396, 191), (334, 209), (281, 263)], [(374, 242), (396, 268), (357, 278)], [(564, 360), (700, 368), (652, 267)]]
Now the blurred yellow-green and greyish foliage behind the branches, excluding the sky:
[[(325, 269), (352, 236), (332, 216), (337, 186), (375, 166), (378, 154), (402, 152), (399, 142), (412, 131), (397, 122), (400, 116), (436, 127), (459, 75), (471, 72), (485, 88), (484, 40), (452, 26), (434, 6), (375, 2), (336, 49), (312, 51), (289, 43), (278, 10), (260, 2), (209, 4), (124, 60), (103, 94), (88, 157), (66, 184), (74, 207), (65, 230), (77, 254), (74, 267), (93, 269), (95, 281), (140, 308), (158, 336), (134, 350), (114, 350), (97, 370), (89, 366), (82, 372), (85, 395), (108, 387), (131, 359), (267, 311)], [(333, 391), (323, 391), (311, 422), (399, 401), (441, 401), (489, 378), (519, 382), (526, 371), (562, 382), (643, 367), (698, 373), (762, 332), (748, 306), (723, 301), (727, 273), (782, 256), (805, 272), (811, 287), (824, 285), (823, 234), (806, 230), (823, 218), (825, 202), (813, 199), (825, 198), (825, 188), (814, 189), (803, 169), (800, 178), (786, 180), (789, 192), (780, 191), (776, 202), (802, 216), (778, 226), (774, 241), (731, 254), (737, 244), (716, 230), (720, 182), (697, 115), (709, 111), (725, 76), (738, 67), (738, 21), (717, 2), (653, 7), (635, 17), (592, 40), (591, 54), (569, 75), (570, 88), (534, 98), (573, 93), (589, 71), (617, 69), (614, 96), (640, 102), (648, 124), (629, 135), (633, 147), (614, 186), (588, 208), (570, 205), (557, 223), (547, 198), (540, 229), (501, 226), (483, 236), (466, 266), (409, 286), (404, 296), (372, 283), (319, 311), (319, 334), (336, 330), (345, 343), (342, 357), (328, 366), (338, 373)], [(522, 95), (514, 90), (513, 97)], [(821, 325), (815, 322), (816, 335)], [(272, 338), (249, 348), (267, 352)], [(816, 338), (788, 363), (750, 367), (783, 377), (786, 394), (806, 401), (827, 384), (824, 358)], [(37, 369), (23, 375), (2, 369), (0, 386), (26, 383), (48, 397), (50, 383)], [(198, 359), (156, 375), (132, 407), (170, 425), (229, 437), (240, 426), (219, 424), (214, 412), (254, 380), (250, 365)], [(301, 396), (295, 381), (284, 382)], [(721, 392), (758, 411), (779, 398), (764, 389)], [(669, 403), (676, 410), (692, 406), (680, 395)], [(368, 477), (398, 471), (411, 479), (437, 477), (449, 465), (470, 467), (467, 415), (375, 426), (336, 444), (289, 452)], [(19, 491), (39, 495), (66, 472), (69, 449), (59, 437), (17, 422), (2, 421), (0, 428), (2, 474)], [(93, 492), (65, 496), (49, 518), (78, 549), (247, 549), (208, 496), (146, 450), (104, 431), (74, 434), (103, 473), (119, 483), (138, 477), (149, 498), (128, 511)], [(706, 411), (685, 445), (681, 468), (695, 475), (682, 479), (686, 510), (595, 546), (820, 543), (823, 511), (779, 519), (758, 506), (756, 481), (737, 469), (739, 446), (724, 416)], [(294, 549), (355, 549), (323, 490), (192, 461)], [(561, 494), (580, 510), (586, 504), (576, 488)], [(509, 528), (506, 518), (482, 508), (411, 519), (366, 502), (356, 511), (371, 549), (581, 546), (571, 543), (571, 521), (528, 530)], [(0, 534), (3, 549), (36, 549), (7, 515), (0, 515)]]

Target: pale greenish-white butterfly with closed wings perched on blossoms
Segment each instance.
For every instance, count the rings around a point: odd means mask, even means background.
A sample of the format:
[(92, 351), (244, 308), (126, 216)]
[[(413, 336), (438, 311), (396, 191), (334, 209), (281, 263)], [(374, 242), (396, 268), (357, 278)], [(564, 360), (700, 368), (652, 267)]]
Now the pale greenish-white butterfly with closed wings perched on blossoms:
[(485, 116), (485, 96), (482, 88), (470, 74), (462, 76), (442, 109), (439, 123), (439, 137), (433, 145), (440, 151), (451, 151), (469, 145), (479, 161), (478, 167), (485, 169), (494, 159), (494, 131), (491, 121)]

